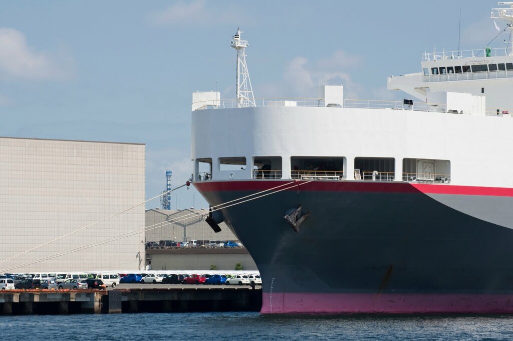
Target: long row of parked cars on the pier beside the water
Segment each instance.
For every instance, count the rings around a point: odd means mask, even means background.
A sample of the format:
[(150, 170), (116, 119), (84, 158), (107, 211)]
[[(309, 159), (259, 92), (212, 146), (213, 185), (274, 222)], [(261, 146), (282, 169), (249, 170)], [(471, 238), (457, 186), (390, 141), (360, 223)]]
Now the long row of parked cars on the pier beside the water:
[(37, 273), (0, 275), (0, 290), (106, 289), (120, 283), (262, 285), (259, 274)]

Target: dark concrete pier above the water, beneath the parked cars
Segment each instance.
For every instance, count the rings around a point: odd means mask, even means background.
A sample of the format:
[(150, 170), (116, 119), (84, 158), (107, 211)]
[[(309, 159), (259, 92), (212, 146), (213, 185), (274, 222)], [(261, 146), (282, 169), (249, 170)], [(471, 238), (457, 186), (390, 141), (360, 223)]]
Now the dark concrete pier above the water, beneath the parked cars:
[(262, 290), (234, 287), (0, 292), (0, 315), (260, 311)]

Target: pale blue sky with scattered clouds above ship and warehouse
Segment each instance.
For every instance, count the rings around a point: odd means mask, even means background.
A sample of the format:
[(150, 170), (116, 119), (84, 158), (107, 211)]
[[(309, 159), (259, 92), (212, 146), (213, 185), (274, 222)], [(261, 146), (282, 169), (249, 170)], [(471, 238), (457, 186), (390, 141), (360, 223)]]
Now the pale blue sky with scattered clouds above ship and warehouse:
[[(149, 199), (165, 189), (167, 169), (173, 187), (193, 172), (192, 92), (235, 98), (230, 40), (238, 27), (250, 45), (255, 98), (311, 98), (320, 84), (342, 84), (346, 99), (399, 100), (404, 94), (386, 90), (388, 75), (420, 72), (423, 52), (458, 50), (459, 41), (462, 50), (483, 48), (498, 34), (495, 7), (488, 0), (5, 0), (0, 136), (145, 143)], [(172, 209), (189, 207), (208, 206), (194, 188), (173, 193)]]

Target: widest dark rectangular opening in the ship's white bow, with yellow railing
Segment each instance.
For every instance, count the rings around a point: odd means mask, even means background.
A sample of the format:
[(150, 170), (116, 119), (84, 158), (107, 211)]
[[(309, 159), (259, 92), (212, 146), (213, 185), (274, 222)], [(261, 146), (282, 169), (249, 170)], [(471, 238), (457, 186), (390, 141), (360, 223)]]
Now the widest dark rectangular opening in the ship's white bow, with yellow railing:
[(291, 179), (345, 179), (346, 158), (344, 157), (307, 157), (290, 158)]

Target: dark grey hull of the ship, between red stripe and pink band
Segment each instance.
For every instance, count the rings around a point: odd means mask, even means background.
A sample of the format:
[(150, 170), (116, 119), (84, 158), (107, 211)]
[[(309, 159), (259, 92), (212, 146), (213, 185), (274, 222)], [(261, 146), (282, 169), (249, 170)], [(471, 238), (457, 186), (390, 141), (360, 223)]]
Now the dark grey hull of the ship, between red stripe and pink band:
[[(269, 188), (277, 185), (268, 183)], [(501, 305), (504, 297), (513, 301), (513, 230), (447, 205), (467, 200), (470, 206), (483, 210), (493, 204), (490, 210), (499, 209), (503, 220), (513, 221), (511, 197), (499, 200), (488, 195), (426, 194), (406, 188), (404, 183), (397, 187), (390, 183), (382, 187), (336, 185), (336, 190), (305, 185), (222, 211), (226, 223), (257, 263), (264, 300), (274, 291), (282, 300), (288, 294), (294, 299), (301, 297), (298, 294), (346, 299), (340, 297), (343, 294), (495, 295), (501, 297)], [(258, 192), (241, 183), (196, 186), (212, 205)], [(283, 217), (299, 206), (309, 216), (295, 232)], [(322, 305), (322, 299), (320, 302)], [(358, 303), (356, 306), (341, 308), (340, 312), (360, 311)], [(458, 308), (456, 312), (479, 309), (474, 308)], [(311, 304), (294, 309), (290, 311), (323, 311)], [(510, 309), (513, 311), (509, 306), (492, 310)], [(410, 311), (426, 310), (413, 307)]]

